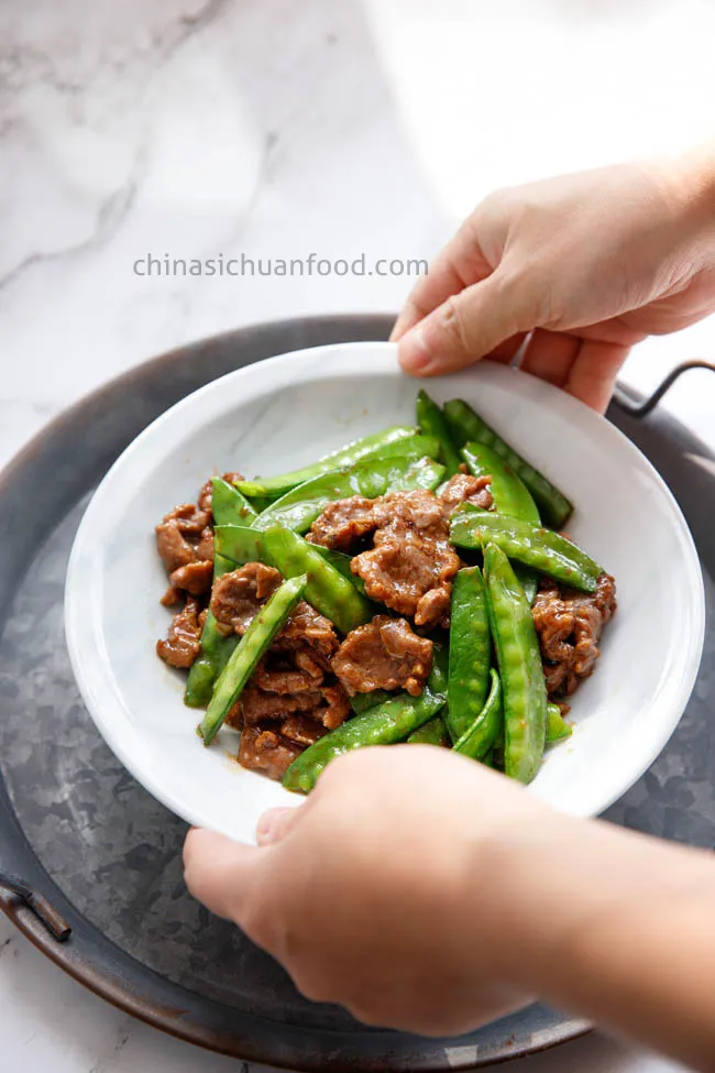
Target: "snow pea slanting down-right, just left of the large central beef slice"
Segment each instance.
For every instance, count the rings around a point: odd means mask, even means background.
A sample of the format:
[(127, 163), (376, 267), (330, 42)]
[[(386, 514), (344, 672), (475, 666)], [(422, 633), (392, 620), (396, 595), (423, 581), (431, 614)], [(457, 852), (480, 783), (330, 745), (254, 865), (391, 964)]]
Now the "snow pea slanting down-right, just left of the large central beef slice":
[(307, 576), (306, 600), (341, 633), (350, 633), (373, 617), (374, 605), (323, 558), (316, 545), (274, 525), (263, 534), (263, 546), (265, 558), (284, 578)]

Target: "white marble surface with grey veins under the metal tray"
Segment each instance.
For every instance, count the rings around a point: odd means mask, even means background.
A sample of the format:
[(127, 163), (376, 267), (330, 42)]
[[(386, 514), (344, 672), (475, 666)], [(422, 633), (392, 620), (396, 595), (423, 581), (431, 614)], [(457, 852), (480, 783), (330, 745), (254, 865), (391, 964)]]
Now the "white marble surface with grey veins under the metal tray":
[[(429, 256), (494, 186), (712, 135), (707, 0), (0, 4), (0, 463), (128, 366), (240, 324), (392, 310), (398, 277), (153, 278), (174, 258)], [(652, 386), (712, 322), (644, 343)], [(669, 405), (708, 436), (715, 384)], [(712, 438), (712, 437), (711, 437)], [(0, 1048), (28, 1073), (218, 1073), (0, 921)], [(673, 1073), (592, 1038), (529, 1073)]]

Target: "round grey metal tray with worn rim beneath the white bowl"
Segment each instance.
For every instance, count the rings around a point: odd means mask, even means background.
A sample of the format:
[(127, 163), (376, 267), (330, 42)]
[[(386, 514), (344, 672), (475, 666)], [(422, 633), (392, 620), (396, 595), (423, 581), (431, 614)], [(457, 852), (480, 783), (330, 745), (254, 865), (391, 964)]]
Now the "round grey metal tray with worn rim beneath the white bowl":
[[(293, 1070), (475, 1069), (573, 1039), (588, 1025), (532, 1006), (471, 1036), (435, 1041), (369, 1029), (338, 1007), (304, 999), (275, 962), (187, 895), (185, 824), (122, 768), (79, 699), (64, 640), (64, 576), (91, 490), (178, 398), (272, 354), (384, 339), (391, 324), (311, 318), (183, 348), (80, 402), (0, 478), (0, 908), (48, 957), (117, 1006), (194, 1043)], [(676, 423), (638, 418), (623, 403), (612, 418), (653, 460), (695, 535), (708, 634), (678, 732), (608, 817), (710, 846), (715, 458)]]

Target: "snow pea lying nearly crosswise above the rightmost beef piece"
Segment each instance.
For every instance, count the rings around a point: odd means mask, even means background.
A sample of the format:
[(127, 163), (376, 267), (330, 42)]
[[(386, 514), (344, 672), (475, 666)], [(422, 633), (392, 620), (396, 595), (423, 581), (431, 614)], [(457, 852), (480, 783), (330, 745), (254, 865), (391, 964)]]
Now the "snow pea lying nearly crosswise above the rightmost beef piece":
[(603, 572), (585, 551), (559, 533), (488, 511), (458, 512), (452, 519), (450, 539), (460, 548), (480, 548), (492, 541), (509, 559), (582, 592), (595, 592), (596, 579)]

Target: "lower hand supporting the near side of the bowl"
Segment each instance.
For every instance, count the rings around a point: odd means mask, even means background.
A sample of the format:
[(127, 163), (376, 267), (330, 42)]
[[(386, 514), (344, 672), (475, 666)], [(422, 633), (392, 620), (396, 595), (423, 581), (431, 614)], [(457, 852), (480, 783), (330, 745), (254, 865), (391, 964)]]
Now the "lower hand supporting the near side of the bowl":
[(186, 882), (308, 998), (367, 1023), (452, 1034), (527, 1000), (512, 981), (490, 854), (549, 818), (561, 822), (447, 751), (361, 749), (334, 760), (301, 808), (266, 813), (260, 848), (191, 831)]

